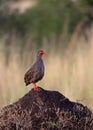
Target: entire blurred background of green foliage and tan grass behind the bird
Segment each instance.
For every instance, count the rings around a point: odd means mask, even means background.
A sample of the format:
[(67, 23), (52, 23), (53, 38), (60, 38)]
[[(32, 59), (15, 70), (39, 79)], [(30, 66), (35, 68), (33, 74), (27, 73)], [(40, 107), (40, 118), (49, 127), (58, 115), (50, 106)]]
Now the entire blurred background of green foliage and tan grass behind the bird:
[(22, 97), (24, 73), (44, 49), (38, 83), (93, 109), (93, 0), (0, 0), (0, 107)]

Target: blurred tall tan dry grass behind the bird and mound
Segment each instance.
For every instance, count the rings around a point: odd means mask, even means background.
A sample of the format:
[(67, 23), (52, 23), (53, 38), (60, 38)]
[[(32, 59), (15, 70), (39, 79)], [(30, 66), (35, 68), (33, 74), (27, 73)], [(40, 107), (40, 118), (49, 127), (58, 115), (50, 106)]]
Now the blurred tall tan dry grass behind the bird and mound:
[[(43, 47), (46, 51), (44, 57), (45, 77), (38, 83), (44, 89), (57, 90), (73, 101), (79, 101), (93, 109), (93, 32), (89, 32), (89, 40), (84, 38), (71, 40), (73, 48), (69, 47), (65, 54), (56, 52), (53, 47)], [(11, 47), (9, 64), (0, 46), (0, 107), (18, 100), (29, 91), (32, 86), (25, 87), (24, 73), (30, 67), (35, 51), (28, 55), (24, 51), (22, 59), (20, 54)], [(51, 47), (50, 47), (51, 49)], [(48, 53), (49, 52), (49, 53)], [(48, 54), (48, 55), (47, 55)]]

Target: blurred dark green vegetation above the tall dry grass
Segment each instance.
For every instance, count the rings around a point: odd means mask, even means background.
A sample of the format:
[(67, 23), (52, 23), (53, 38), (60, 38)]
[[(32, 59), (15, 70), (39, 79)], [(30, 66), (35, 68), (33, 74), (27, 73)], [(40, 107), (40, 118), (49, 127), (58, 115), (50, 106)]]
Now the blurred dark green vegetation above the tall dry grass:
[(90, 25), (93, 20), (91, 8), (93, 0), (37, 0), (36, 5), (23, 14), (10, 13), (3, 8), (0, 28), (15, 30), (21, 38), (30, 38), (38, 44), (44, 39), (60, 43), (60, 38), (65, 44), (75, 30), (80, 33)]

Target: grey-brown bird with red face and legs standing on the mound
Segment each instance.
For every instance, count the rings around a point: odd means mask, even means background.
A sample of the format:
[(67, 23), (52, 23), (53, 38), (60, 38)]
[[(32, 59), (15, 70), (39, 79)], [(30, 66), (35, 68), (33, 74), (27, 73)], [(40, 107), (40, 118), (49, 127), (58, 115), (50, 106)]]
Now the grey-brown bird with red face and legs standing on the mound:
[(43, 55), (45, 52), (43, 50), (39, 50), (36, 56), (36, 61), (31, 66), (31, 68), (24, 75), (25, 85), (32, 84), (35, 91), (39, 91), (36, 83), (41, 80), (44, 76), (44, 63), (43, 63)]

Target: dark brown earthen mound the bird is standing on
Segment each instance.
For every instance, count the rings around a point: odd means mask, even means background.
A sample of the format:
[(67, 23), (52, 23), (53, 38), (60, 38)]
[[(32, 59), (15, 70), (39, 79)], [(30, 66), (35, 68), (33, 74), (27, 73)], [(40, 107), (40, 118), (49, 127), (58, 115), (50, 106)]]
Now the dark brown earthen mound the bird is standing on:
[(86, 106), (39, 89), (0, 111), (0, 130), (93, 130), (93, 114)]

